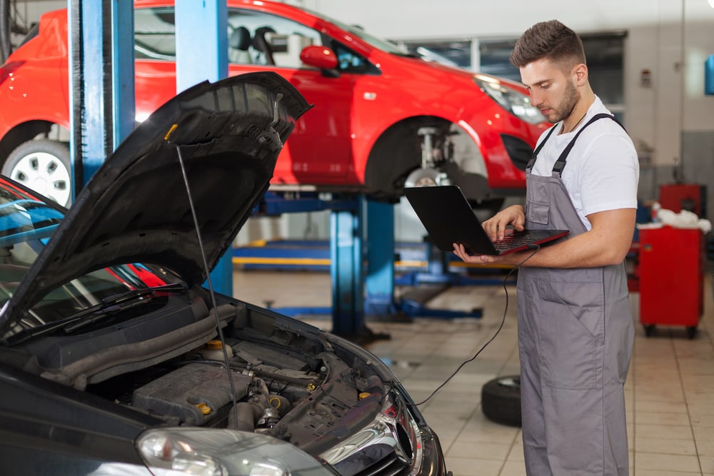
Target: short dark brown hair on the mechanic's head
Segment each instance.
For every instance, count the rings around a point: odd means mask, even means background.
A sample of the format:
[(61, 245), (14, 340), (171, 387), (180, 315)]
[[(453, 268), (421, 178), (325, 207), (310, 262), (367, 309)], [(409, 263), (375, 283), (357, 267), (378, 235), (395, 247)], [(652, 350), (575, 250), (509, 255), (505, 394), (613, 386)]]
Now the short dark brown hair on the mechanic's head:
[(511, 64), (521, 68), (539, 59), (585, 64), (583, 41), (575, 31), (558, 20), (541, 21), (527, 29), (516, 41), (511, 53)]

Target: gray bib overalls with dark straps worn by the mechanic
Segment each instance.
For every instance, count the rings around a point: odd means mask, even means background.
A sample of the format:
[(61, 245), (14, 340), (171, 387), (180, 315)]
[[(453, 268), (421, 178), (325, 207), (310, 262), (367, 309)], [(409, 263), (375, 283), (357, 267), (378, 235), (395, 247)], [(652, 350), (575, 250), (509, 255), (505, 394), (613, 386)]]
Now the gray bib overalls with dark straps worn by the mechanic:
[[(526, 227), (586, 231), (560, 173), (531, 173), (545, 137), (526, 169)], [(623, 387), (633, 323), (624, 263), (602, 268), (518, 270), (518, 348), (521, 358), (523, 450), (528, 475), (628, 475)]]

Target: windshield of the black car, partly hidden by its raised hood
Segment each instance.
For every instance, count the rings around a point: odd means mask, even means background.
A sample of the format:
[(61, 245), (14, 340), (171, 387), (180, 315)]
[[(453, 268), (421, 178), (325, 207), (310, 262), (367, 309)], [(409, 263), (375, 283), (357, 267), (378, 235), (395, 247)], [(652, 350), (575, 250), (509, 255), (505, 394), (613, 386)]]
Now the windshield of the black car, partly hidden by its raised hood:
[[(0, 179), (0, 303), (14, 295), (63, 217), (61, 208)], [(127, 290), (164, 284), (144, 265), (95, 270), (49, 290), (3, 337), (75, 315)]]

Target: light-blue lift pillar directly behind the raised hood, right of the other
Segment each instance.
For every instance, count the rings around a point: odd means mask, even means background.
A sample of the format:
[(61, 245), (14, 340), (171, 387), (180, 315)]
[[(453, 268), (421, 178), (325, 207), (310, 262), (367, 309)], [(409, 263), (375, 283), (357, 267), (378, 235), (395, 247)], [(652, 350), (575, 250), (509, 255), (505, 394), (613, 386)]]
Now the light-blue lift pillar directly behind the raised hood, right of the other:
[[(176, 2), (176, 91), (228, 76), (228, 7), (225, 1)], [(217, 293), (233, 295), (231, 253), (211, 272)]]

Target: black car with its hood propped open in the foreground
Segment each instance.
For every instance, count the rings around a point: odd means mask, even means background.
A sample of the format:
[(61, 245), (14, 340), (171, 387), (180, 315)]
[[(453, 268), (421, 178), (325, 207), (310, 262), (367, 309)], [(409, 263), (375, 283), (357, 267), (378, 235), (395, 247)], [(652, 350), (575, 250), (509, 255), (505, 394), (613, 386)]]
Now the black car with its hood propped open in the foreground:
[(0, 474), (447, 474), (378, 358), (205, 285), (309, 107), (193, 86), (69, 211), (0, 178)]

